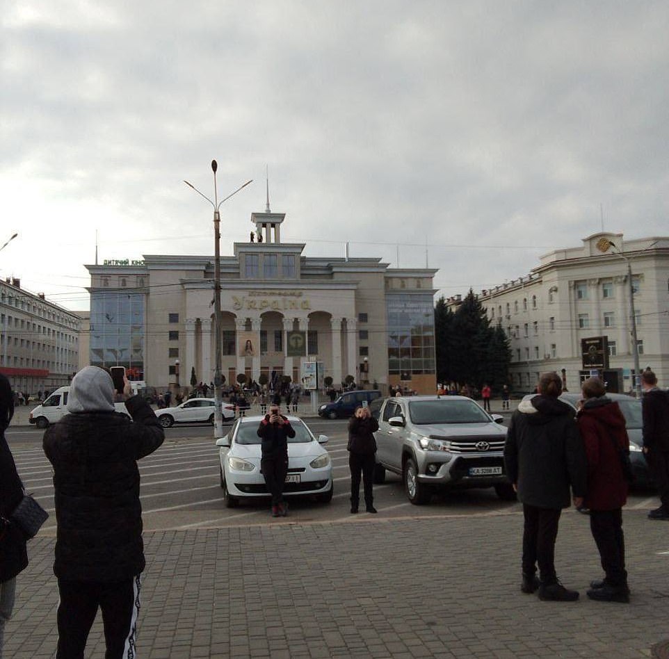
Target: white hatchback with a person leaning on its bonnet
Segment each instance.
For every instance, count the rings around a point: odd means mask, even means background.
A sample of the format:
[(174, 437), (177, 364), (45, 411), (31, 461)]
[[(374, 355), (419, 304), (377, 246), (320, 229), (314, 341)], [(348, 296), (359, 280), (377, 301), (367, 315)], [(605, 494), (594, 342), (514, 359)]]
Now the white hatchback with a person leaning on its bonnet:
[[(269, 496), (265, 479), (260, 471), (260, 437), (258, 426), (262, 416), (239, 418), (225, 437), (216, 440), (220, 460), (220, 487), (225, 505), (232, 508), (242, 498)], [(307, 424), (296, 416), (289, 416), (295, 437), (288, 440), (288, 473), (284, 496), (316, 496), (316, 501), (332, 500), (332, 460), (321, 444), (328, 437), (318, 439)]]

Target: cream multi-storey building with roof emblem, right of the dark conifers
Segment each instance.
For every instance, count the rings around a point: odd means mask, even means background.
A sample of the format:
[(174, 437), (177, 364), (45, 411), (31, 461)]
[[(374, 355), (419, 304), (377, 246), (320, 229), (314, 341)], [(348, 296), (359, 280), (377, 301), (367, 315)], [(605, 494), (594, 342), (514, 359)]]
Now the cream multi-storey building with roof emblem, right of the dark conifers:
[[(571, 391), (591, 371), (604, 377), (610, 391), (631, 391), (633, 304), (640, 370), (650, 366), (669, 384), (668, 237), (624, 241), (622, 234), (594, 234), (581, 247), (545, 254), (529, 275), (481, 291), (478, 298), (510, 339), (515, 391), (531, 391), (543, 371), (562, 373)], [(604, 339), (602, 368), (583, 361), (582, 340), (595, 338)]]

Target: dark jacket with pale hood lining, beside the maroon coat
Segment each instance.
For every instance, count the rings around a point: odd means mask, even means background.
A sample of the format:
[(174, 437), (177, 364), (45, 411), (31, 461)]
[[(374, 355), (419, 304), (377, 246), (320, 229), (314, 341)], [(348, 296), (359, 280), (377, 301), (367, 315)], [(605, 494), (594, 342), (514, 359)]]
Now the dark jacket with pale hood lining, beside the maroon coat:
[(518, 501), (566, 508), (586, 495), (587, 467), (574, 409), (551, 396), (523, 400), (511, 417), (504, 462)]

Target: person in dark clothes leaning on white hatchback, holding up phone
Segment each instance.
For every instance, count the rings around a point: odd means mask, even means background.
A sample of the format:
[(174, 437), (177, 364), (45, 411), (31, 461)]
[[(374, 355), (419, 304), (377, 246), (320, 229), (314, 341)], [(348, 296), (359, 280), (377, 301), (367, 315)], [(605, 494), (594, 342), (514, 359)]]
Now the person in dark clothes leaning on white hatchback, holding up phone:
[(295, 437), (295, 429), (275, 402), (260, 422), (258, 437), (262, 440), (260, 469), (272, 495), (272, 516), (285, 517), (288, 504), (284, 501), (283, 489), (288, 473), (288, 439)]

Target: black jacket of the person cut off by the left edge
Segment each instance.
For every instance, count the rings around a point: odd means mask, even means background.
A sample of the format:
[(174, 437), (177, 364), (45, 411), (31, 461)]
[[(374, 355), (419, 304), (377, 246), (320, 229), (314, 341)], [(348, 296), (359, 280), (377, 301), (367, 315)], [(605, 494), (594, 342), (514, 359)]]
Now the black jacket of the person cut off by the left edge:
[[(22, 498), (21, 479), (5, 434), (0, 432), (0, 517), (9, 519)], [(0, 583), (14, 578), (27, 565), (26, 536), (22, 530), (15, 523), (0, 526)]]

